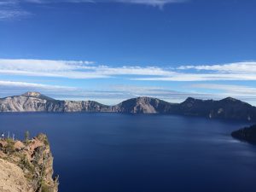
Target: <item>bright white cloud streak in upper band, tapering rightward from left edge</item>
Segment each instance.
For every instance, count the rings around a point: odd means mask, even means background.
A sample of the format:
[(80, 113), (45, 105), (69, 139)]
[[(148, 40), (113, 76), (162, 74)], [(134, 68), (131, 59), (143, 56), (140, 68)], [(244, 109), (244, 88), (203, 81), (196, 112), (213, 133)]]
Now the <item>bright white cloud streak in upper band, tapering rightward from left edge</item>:
[(119, 75), (171, 75), (160, 67), (108, 67), (91, 61), (7, 60), (0, 59), (0, 73), (68, 79), (103, 79)]

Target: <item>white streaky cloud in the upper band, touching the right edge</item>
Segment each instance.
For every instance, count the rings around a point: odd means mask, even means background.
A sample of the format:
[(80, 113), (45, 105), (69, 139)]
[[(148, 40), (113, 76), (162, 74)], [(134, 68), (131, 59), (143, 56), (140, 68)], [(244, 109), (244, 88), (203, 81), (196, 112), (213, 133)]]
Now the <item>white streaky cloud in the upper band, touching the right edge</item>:
[(144, 81), (218, 81), (256, 80), (256, 62), (236, 62), (215, 65), (181, 66), (173, 74), (162, 77), (136, 78)]

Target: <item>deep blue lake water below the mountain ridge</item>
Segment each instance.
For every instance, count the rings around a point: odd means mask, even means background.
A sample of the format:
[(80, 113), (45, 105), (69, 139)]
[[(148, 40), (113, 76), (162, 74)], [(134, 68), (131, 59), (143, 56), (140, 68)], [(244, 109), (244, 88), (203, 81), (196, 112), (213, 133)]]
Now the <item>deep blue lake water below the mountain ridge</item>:
[(253, 192), (244, 122), (117, 113), (0, 113), (0, 131), (44, 132), (60, 192)]

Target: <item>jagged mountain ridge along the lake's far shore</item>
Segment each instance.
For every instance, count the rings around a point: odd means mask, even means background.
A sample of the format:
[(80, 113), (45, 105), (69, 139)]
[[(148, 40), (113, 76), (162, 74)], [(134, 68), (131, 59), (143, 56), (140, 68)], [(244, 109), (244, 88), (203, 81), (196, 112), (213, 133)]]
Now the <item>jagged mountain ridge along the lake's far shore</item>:
[(143, 96), (107, 106), (93, 101), (55, 100), (38, 92), (26, 92), (20, 96), (0, 99), (0, 112), (166, 113), (256, 122), (256, 108), (231, 97), (219, 101), (189, 97), (181, 103), (170, 103)]

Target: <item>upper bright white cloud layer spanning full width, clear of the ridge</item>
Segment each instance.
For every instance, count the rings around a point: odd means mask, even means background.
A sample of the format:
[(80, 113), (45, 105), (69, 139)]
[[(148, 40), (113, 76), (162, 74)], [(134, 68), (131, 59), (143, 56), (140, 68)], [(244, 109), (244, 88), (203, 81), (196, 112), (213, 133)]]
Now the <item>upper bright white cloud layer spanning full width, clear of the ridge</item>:
[[(197, 69), (193, 71), (192, 69)], [(209, 73), (207, 70), (211, 70)], [(207, 72), (206, 72), (207, 71)], [(111, 67), (92, 61), (0, 59), (0, 74), (65, 79), (122, 78), (140, 81), (255, 81), (255, 62), (212, 66), (182, 66), (177, 69), (157, 66)]]

